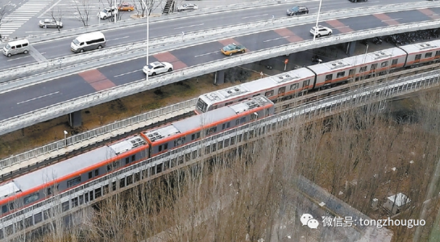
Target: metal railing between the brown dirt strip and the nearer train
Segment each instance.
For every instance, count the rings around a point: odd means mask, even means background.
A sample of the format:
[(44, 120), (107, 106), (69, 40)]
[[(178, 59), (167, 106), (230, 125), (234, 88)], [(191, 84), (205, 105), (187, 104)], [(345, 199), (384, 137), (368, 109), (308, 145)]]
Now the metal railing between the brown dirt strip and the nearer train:
[(150, 112), (146, 112), (143, 114), (139, 114), (135, 117), (130, 117), (128, 119), (123, 119), (121, 121), (116, 121), (114, 123), (110, 123), (108, 125), (104, 125), (100, 128), (95, 128), (93, 130), (89, 130), (83, 132), (81, 134), (76, 134), (70, 136), (62, 141), (56, 141), (54, 143), (50, 143), (48, 145), (44, 145), (42, 147), (38, 147), (36, 149), (32, 149), (28, 152), (24, 152), (22, 154), (12, 156), (9, 158), (5, 158), (0, 160), (0, 169), (4, 169), (5, 167), (10, 167), (11, 165), (15, 165), (17, 163), (23, 162), (30, 158), (35, 158), (37, 156), (43, 154), (49, 154), (50, 152), (54, 152), (55, 150), (65, 148), (70, 145), (75, 145), (77, 143), (82, 143), (91, 138), (96, 138), (97, 136), (102, 136), (104, 134), (108, 134), (110, 132), (114, 132), (115, 130), (119, 130), (121, 128), (130, 127), (135, 125), (136, 123), (141, 123), (143, 121), (147, 121), (148, 119), (154, 119), (162, 115), (166, 115), (172, 112), (176, 112), (178, 110), (183, 110), (186, 108), (192, 108), (196, 106), (197, 99), (190, 99), (187, 101), (183, 101), (178, 104), (174, 104), (171, 106), (167, 106), (165, 108), (159, 108), (157, 110), (153, 110)]

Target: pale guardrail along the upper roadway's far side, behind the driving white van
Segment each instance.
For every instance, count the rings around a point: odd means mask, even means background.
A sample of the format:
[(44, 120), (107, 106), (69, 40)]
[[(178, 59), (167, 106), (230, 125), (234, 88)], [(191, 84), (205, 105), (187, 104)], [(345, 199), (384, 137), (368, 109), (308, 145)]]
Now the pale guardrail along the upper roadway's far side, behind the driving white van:
[[(283, 0), (281, 4), (292, 4), (292, 3), (303, 3), (304, 1), (301, 0)], [(186, 17), (192, 17), (192, 16), (198, 16), (201, 14), (216, 14), (220, 12), (227, 12), (231, 10), (241, 10), (245, 8), (255, 8), (255, 7), (262, 7), (266, 5), (275, 5), (279, 4), (279, 1), (253, 1), (251, 3), (236, 3), (236, 4), (229, 4), (229, 5), (221, 5), (216, 6), (213, 8), (203, 8), (199, 10), (194, 10), (191, 12), (175, 12), (172, 14), (166, 14), (161, 16), (150, 16), (150, 23), (154, 22), (161, 22), (161, 21), (167, 21), (170, 19), (181, 19)], [(95, 31), (105, 31), (105, 30), (114, 30), (121, 27), (135, 27), (137, 25), (146, 25), (147, 20), (144, 17), (143, 19), (127, 19), (122, 21), (117, 21), (116, 23), (108, 22), (108, 23), (102, 23), (99, 25), (89, 25), (87, 27), (79, 27), (76, 29), (66, 29), (62, 30), (61, 32), (53, 32), (53, 33), (47, 33), (47, 34), (40, 34), (38, 36), (27, 36), (27, 37), (20, 37), (19, 39), (26, 38), (29, 40), (30, 43), (38, 43), (43, 42), (47, 40), (54, 40), (59, 38), (66, 38), (69, 36), (77, 36), (79, 34), (85, 34), (89, 32), (95, 32)], [(0, 43), (0, 49), (3, 48), (2, 43)]]

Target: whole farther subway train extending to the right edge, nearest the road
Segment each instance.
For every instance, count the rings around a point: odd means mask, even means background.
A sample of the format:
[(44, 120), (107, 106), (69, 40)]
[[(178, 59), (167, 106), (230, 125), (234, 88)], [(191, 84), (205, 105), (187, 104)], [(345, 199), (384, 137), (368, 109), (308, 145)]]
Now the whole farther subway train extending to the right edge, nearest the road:
[(315, 64), (200, 95), (195, 111), (200, 114), (257, 95), (266, 96), (273, 101), (279, 98), (288, 99), (309, 90), (330, 88), (352, 80), (357, 81), (360, 77), (367, 79), (396, 69), (431, 64), (439, 60), (440, 40), (393, 47)]

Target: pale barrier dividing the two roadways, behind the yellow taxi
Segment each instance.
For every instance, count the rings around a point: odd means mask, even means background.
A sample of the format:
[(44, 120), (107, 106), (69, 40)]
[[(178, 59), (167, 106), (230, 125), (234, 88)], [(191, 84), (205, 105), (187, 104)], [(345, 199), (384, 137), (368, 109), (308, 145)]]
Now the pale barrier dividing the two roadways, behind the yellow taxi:
[[(352, 16), (363, 16), (378, 12), (395, 12), (404, 10), (413, 10), (415, 8), (420, 8), (421, 6), (427, 5), (426, 2), (416, 2), (408, 4), (397, 4), (397, 5), (381, 5), (370, 8), (347, 8), (344, 10), (332, 11), (332, 12), (322, 12), (320, 14), (320, 19), (326, 21), (329, 19), (341, 19), (348, 18)], [(432, 7), (432, 4), (428, 4)], [(439, 4), (440, 6), (440, 4)], [(270, 29), (276, 29), (281, 27), (291, 27), (292, 25), (303, 25), (307, 23), (314, 23), (318, 14), (307, 14), (304, 16), (296, 17), (284, 17), (281, 19), (267, 19), (265, 21), (256, 21), (253, 23), (244, 23), (240, 25), (233, 25), (231, 27), (218, 27), (214, 29), (204, 29), (197, 32), (189, 32), (186, 34), (175, 34), (172, 36), (165, 36), (161, 38), (154, 38), (153, 40), (141, 41), (132, 44), (118, 45), (116, 47), (104, 48), (103, 50), (90, 51), (89, 53), (76, 54), (73, 56), (65, 56), (62, 58), (55, 58), (47, 60), (45, 62), (37, 62), (34, 64), (27, 64), (25, 66), (14, 66), (10, 69), (3, 69), (0, 71), (1, 82), (8, 82), (17, 78), (30, 77), (33, 73), (38, 71), (44, 71), (44, 78), (32, 77), (32, 83), (39, 82), (40, 80), (47, 80), (46, 73), (51, 70), (62, 69), (62, 73), (58, 75), (69, 75), (70, 72), (66, 73), (64, 71), (68, 66), (75, 65), (76, 70), (78, 70), (78, 64), (84, 64), (87, 62), (87, 69), (94, 68), (91, 66), (91, 62), (99, 62), (100, 60), (106, 60), (106, 62), (118, 62), (119, 56), (124, 53), (130, 53), (132, 58), (139, 58), (145, 56), (142, 51), (147, 48), (155, 47), (155, 51), (168, 51), (170, 49), (177, 49), (179, 47), (184, 47), (187, 45), (195, 45), (198, 43), (205, 43), (208, 41), (217, 40), (219, 38), (229, 38), (230, 36), (235, 36), (237, 34), (245, 35), (255, 32), (262, 32)], [(154, 51), (154, 50), (153, 50)], [(154, 54), (154, 52), (151, 54)], [(118, 60), (115, 60), (118, 58)], [(85, 67), (84, 67), (85, 68)], [(54, 74), (52, 74), (54, 76)], [(56, 76), (56, 75), (55, 75)], [(19, 80), (21, 85), (23, 80)]]

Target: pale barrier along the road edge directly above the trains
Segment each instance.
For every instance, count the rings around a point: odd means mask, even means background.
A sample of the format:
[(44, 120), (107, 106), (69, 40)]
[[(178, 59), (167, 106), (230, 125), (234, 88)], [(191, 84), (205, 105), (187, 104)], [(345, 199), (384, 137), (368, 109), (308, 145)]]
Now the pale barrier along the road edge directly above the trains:
[(305, 40), (298, 43), (291, 43), (288, 45), (281, 45), (275, 48), (263, 49), (260, 51), (254, 51), (251, 53), (244, 53), (239, 56), (233, 56), (218, 61), (207, 62), (205, 64), (199, 64), (197, 66), (191, 66), (189, 68), (173, 71), (165, 75), (159, 75), (157, 77), (148, 78), (147, 80), (139, 80), (137, 82), (131, 82), (130, 84), (124, 84), (102, 90), (100, 92), (92, 93), (82, 97), (77, 97), (69, 101), (64, 101), (59, 104), (54, 104), (39, 110), (27, 112), (16, 117), (4, 119), (0, 122), (0, 135), (20, 128), (27, 127), (34, 123), (46, 121), (54, 117), (59, 117), (63, 114), (69, 114), (84, 108), (102, 104), (107, 101), (112, 101), (121, 97), (126, 97), (135, 93), (140, 93), (144, 90), (150, 90), (174, 82), (180, 82), (181, 80), (187, 80), (191, 77), (197, 77), (214, 71), (228, 69), (240, 64), (248, 64), (257, 60), (274, 58), (277, 56), (283, 56), (288, 53), (294, 53), (297, 51), (305, 51), (307, 49), (316, 49), (328, 45), (334, 45), (337, 43), (347, 43), (354, 40), (362, 40), (365, 38), (372, 38), (374, 36), (382, 36), (389, 34), (399, 34), (404, 32), (412, 32), (420, 29), (430, 29), (440, 27), (440, 20), (437, 21), (425, 21), (422, 23), (408, 23), (403, 25), (397, 25), (393, 27), (377, 28), (362, 30), (358, 32), (351, 32), (349, 34), (339, 34), (329, 37), (317, 38), (315, 41)]

